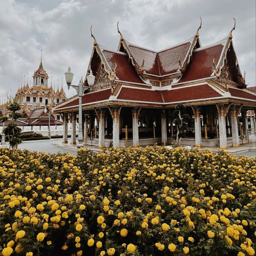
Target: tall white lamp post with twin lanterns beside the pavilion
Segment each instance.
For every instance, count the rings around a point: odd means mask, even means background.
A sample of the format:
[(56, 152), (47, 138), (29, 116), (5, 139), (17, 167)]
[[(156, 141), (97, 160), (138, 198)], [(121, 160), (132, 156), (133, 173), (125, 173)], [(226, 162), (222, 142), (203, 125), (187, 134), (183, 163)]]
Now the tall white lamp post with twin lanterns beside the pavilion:
[(66, 82), (68, 85), (68, 90), (70, 88), (70, 86), (72, 86), (73, 88), (76, 89), (76, 92), (78, 94), (79, 97), (79, 104), (78, 104), (78, 122), (79, 122), (79, 126), (78, 126), (78, 144), (76, 145), (78, 148), (84, 146), (83, 145), (83, 132), (82, 132), (82, 95), (84, 94), (84, 91), (87, 88), (92, 89), (92, 86), (94, 84), (94, 80), (95, 80), (95, 76), (92, 74), (92, 70), (90, 70), (90, 74), (86, 77), (87, 78), (87, 82), (88, 82), (88, 86), (83, 86), (82, 85), (82, 81), (80, 80), (78, 85), (73, 85), (72, 80), (73, 80), (73, 76), (74, 74), (71, 72), (70, 67), (68, 67), (68, 71), (65, 72), (65, 78), (66, 78)]

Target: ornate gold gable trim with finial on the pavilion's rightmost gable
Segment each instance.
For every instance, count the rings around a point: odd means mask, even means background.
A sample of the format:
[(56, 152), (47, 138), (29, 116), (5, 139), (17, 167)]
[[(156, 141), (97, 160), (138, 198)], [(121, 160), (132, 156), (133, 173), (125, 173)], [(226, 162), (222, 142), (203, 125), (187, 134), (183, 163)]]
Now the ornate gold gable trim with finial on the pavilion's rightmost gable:
[[(233, 46), (233, 43), (232, 43), (232, 38), (233, 38), (232, 31), (235, 30), (235, 29), (236, 29), (236, 19), (234, 18), (234, 26), (233, 26), (232, 30), (229, 32), (228, 36), (226, 38), (224, 38), (224, 39), (226, 39), (226, 45), (225, 45), (225, 47), (224, 47), (224, 49), (222, 51), (221, 58), (218, 61), (217, 65), (215, 65), (214, 60), (213, 60), (213, 68), (214, 68), (213, 75), (216, 76), (217, 78), (221, 76), (221, 70), (222, 70), (222, 68), (226, 64), (227, 53), (228, 53), (228, 50), (230, 48), (230, 45), (232, 44), (232, 46)], [(235, 52), (234, 52), (234, 54), (236, 55)], [(237, 58), (236, 58), (236, 68), (238, 70), (238, 77), (239, 77), (240, 83), (242, 84), (242, 88), (246, 88), (245, 72), (244, 72), (244, 76), (242, 76), (242, 73), (241, 73), (241, 70), (240, 70)]]

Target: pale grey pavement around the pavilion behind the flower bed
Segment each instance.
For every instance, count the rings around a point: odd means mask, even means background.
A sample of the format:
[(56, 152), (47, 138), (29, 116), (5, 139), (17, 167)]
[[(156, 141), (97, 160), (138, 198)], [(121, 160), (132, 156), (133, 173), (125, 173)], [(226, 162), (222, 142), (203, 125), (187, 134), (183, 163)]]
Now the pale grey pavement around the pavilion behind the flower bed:
[[(256, 158), (256, 136), (250, 135), (249, 136), (250, 143), (240, 144), (237, 148), (229, 147), (227, 149), (230, 154), (233, 155), (244, 155), (248, 157)], [(9, 144), (6, 143), (6, 147), (9, 148)], [(87, 148), (93, 151), (100, 151), (97, 146), (86, 146)], [(24, 141), (18, 148), (21, 150), (28, 149), (37, 152), (47, 152), (47, 153), (62, 153), (62, 154), (76, 154), (77, 147), (70, 145), (70, 143), (62, 144), (62, 138), (58, 139), (50, 139), (50, 140), (31, 140), (31, 141)], [(204, 148), (203, 148), (204, 149)], [(207, 149), (212, 151), (218, 151), (217, 147), (208, 147)]]

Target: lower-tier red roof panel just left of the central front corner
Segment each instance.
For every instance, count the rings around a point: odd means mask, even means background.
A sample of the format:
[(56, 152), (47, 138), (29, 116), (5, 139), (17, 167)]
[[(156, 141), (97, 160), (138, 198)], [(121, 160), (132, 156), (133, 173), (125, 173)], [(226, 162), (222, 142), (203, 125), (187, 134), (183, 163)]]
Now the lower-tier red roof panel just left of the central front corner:
[(117, 97), (119, 100), (136, 100), (136, 101), (147, 101), (147, 102), (159, 102), (163, 103), (160, 91), (144, 90), (122, 87)]

